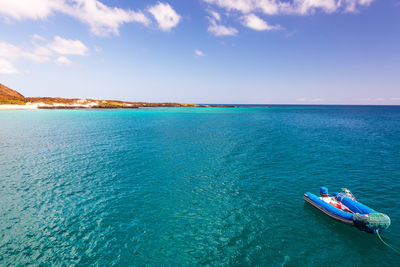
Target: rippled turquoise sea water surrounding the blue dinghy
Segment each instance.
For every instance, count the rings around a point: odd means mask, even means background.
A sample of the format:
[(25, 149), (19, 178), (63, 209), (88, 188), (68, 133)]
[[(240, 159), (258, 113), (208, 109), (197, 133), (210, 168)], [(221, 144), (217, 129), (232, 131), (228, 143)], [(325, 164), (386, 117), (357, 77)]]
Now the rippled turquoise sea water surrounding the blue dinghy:
[(0, 111), (1, 266), (399, 266), (400, 107)]

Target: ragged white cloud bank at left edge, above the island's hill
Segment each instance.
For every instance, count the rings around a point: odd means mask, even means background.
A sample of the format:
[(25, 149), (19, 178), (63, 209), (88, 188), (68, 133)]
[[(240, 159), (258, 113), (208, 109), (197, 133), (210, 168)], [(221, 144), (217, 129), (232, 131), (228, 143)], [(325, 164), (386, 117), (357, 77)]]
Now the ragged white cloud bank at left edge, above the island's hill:
[[(0, 0), (1, 1), (1, 0)], [(0, 42), (0, 68), (3, 74), (18, 73), (12, 62), (18, 59), (34, 61), (36, 63), (50, 62), (54, 59), (57, 65), (71, 65), (71, 60), (65, 55), (85, 56), (89, 49), (79, 40), (68, 40), (55, 36), (53, 41), (46, 42), (43, 37), (32, 35), (33, 47), (17, 46), (6, 42)], [(35, 43), (41, 40), (41, 44)]]

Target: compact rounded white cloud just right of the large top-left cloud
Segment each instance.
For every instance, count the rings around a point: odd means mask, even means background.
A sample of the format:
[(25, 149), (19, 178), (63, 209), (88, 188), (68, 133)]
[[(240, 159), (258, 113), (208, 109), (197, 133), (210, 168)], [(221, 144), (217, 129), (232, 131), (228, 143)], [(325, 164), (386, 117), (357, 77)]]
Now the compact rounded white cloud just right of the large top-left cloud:
[(178, 25), (181, 20), (175, 10), (166, 3), (159, 2), (158, 4), (151, 6), (148, 11), (155, 18), (158, 23), (158, 27), (163, 31), (169, 31)]

